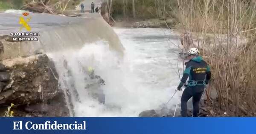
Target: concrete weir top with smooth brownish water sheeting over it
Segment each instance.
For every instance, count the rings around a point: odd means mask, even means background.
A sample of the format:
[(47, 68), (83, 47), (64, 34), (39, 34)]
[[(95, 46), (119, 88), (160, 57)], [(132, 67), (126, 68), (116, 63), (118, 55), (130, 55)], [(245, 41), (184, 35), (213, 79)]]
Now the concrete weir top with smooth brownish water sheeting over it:
[[(2, 60), (29, 56), (36, 53), (51, 53), (81, 49), (84, 44), (104, 40), (111, 50), (123, 54), (123, 47), (112, 27), (99, 14), (83, 14), (82, 17), (30, 13), (28, 22), (31, 31), (39, 33), (38, 41), (13, 41), (11, 33), (20, 30), (22, 14), (0, 13), (0, 42), (3, 43)], [(25, 19), (28, 17), (24, 17)], [(35, 36), (36, 37), (36, 36)]]

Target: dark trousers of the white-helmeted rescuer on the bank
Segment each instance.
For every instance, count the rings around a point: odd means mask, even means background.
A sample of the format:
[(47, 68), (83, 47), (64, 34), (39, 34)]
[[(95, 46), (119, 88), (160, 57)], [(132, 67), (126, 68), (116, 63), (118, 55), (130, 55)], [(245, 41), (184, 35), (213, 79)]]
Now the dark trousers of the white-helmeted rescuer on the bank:
[(193, 117), (198, 117), (199, 102), (204, 93), (204, 86), (187, 87), (181, 96), (181, 116), (187, 117), (187, 102), (193, 97)]

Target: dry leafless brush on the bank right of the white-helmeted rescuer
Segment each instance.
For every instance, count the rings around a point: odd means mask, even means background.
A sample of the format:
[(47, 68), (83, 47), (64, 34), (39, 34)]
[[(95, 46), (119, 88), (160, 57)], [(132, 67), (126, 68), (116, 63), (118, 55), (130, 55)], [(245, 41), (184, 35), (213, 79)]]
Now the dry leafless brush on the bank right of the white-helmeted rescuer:
[[(211, 89), (228, 116), (256, 115), (256, 1), (177, 0), (177, 19), (212, 67)], [(212, 105), (216, 102), (208, 98)]]

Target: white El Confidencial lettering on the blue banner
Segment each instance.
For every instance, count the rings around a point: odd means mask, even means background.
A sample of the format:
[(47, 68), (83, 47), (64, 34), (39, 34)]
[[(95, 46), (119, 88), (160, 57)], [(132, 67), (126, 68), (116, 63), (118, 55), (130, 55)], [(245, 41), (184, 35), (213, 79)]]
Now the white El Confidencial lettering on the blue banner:
[(13, 130), (86, 130), (86, 122), (81, 123), (58, 123), (57, 121), (50, 122), (46, 121), (45, 123), (33, 123), (28, 121), (23, 123), (22, 121), (13, 122)]

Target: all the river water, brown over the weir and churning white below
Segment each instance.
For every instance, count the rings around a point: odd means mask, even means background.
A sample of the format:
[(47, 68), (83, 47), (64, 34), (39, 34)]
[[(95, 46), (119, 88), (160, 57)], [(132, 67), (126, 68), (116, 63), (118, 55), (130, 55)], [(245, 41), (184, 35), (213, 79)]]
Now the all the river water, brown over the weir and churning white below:
[[(22, 11), (9, 12), (0, 14), (5, 20), (0, 29), (6, 34), (19, 29), (17, 18)], [(170, 30), (114, 29), (125, 48), (124, 54), (120, 54), (122, 45), (118, 37), (99, 17), (83, 19), (32, 13), (31, 16), (30, 24), (33, 30), (41, 32), (41, 37), (30, 46), (23, 45), (24, 54), (42, 48), (54, 61), (59, 85), (66, 93), (73, 116), (137, 117), (144, 110), (159, 110), (180, 81), (178, 70), (181, 73), (182, 65), (177, 65), (180, 62), (176, 46), (179, 42)], [(90, 66), (106, 82), (100, 87), (105, 94), (105, 105), (88, 95), (85, 88), (91, 83), (87, 74)], [(174, 96), (168, 108), (179, 102), (180, 94)]]

